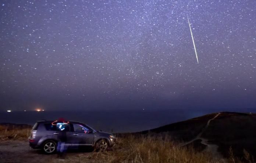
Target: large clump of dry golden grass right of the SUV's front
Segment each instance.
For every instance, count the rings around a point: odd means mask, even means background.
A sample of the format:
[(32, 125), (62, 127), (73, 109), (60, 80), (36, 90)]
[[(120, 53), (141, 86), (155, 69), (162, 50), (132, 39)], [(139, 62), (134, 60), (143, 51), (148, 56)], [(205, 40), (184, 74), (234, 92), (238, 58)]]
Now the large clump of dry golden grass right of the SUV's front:
[(193, 148), (180, 148), (172, 141), (156, 137), (128, 136), (118, 138), (111, 151), (92, 152), (72, 156), (70, 163), (224, 163), (211, 153), (196, 152)]

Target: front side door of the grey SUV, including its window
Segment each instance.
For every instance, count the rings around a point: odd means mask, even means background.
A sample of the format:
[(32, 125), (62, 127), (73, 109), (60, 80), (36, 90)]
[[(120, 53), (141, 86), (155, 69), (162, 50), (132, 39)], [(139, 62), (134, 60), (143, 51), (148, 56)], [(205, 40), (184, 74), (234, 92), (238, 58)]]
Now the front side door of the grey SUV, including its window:
[(69, 141), (72, 146), (93, 144), (94, 134), (87, 127), (79, 123), (72, 123), (71, 126)]

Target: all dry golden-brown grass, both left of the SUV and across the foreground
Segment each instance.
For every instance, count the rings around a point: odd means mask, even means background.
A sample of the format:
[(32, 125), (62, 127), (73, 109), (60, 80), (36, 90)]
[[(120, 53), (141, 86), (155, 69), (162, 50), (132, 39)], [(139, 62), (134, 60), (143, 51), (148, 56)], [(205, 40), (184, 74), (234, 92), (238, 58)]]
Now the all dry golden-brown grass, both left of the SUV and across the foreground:
[[(0, 140), (25, 140), (29, 129), (7, 130), (0, 126)], [(209, 152), (197, 152), (192, 147), (178, 147), (171, 139), (156, 136), (126, 135), (117, 139), (117, 144), (107, 152), (67, 153), (62, 162), (67, 163), (242, 163), (232, 153), (228, 159), (215, 158)], [(245, 163), (253, 163), (248, 152), (244, 151)], [(49, 163), (59, 162), (56, 159)]]

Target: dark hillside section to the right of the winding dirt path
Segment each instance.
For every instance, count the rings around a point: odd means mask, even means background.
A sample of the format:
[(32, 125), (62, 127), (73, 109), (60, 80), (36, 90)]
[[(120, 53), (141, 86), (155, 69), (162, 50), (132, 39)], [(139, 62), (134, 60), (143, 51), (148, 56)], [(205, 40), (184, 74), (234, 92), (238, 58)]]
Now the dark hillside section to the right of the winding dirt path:
[(212, 121), (202, 137), (219, 146), (218, 150), (229, 156), (242, 157), (244, 149), (256, 158), (256, 114), (223, 112)]

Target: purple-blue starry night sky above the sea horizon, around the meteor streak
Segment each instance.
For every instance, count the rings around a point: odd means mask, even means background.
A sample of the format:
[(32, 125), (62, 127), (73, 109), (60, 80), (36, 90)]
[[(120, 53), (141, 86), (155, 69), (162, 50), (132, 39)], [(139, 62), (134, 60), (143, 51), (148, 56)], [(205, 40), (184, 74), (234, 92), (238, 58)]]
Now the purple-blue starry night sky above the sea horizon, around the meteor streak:
[(256, 108), (256, 0), (1, 0), (0, 77), (0, 111)]

